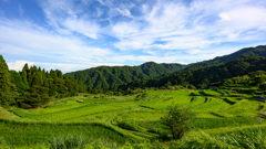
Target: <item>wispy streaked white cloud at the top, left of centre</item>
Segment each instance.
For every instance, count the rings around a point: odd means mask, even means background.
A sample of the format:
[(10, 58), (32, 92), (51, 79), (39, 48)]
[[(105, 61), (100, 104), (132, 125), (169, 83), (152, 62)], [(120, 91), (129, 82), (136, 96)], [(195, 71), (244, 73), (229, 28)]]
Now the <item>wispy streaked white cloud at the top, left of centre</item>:
[[(73, 1), (49, 0), (42, 2), (41, 7), (50, 25), (59, 33), (70, 34), (70, 32), (78, 32), (92, 39), (98, 39), (101, 33), (101, 28), (90, 20), (86, 14), (82, 14), (84, 8), (75, 6)], [(100, 13), (99, 10), (96, 15)]]

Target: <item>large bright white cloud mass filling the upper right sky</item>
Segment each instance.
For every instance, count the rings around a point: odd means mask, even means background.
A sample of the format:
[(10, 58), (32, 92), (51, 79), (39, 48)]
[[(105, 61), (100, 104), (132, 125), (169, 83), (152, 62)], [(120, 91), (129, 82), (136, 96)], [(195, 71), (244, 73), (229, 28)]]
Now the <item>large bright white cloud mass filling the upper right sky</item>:
[[(114, 45), (121, 50), (190, 50), (229, 41), (253, 41), (255, 34), (260, 35), (259, 31), (248, 34), (246, 31), (266, 26), (263, 21), (266, 12), (260, 4), (250, 0), (194, 0), (188, 7), (158, 1), (152, 9), (142, 4), (142, 18), (114, 25), (114, 36), (120, 39)], [(160, 40), (166, 44), (153, 44)]]

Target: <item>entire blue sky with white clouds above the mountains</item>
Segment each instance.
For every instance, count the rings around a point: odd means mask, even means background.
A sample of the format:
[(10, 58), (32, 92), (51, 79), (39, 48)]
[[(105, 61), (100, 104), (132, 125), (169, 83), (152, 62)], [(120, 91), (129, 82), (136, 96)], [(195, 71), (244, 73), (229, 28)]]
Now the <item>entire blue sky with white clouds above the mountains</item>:
[(14, 71), (188, 64), (265, 44), (265, 0), (0, 0)]

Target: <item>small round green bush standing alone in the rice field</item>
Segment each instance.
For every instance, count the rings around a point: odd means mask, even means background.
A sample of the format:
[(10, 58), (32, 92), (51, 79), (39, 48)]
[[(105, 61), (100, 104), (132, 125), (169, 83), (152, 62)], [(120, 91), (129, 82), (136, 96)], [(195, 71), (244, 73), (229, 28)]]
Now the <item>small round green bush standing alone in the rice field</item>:
[(191, 128), (191, 121), (195, 114), (188, 108), (178, 105), (168, 106), (168, 114), (161, 121), (172, 134), (173, 139), (182, 139), (185, 131)]

